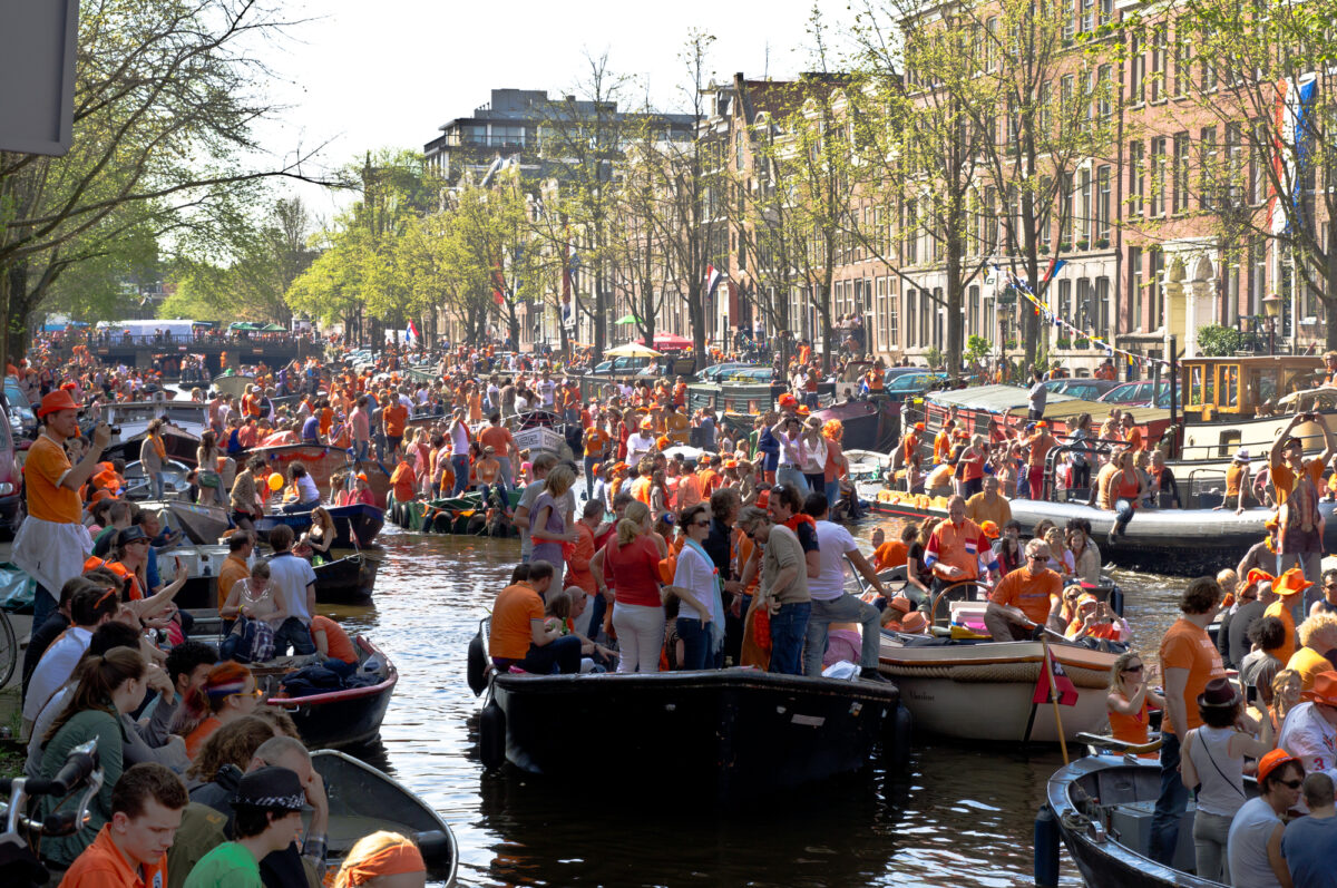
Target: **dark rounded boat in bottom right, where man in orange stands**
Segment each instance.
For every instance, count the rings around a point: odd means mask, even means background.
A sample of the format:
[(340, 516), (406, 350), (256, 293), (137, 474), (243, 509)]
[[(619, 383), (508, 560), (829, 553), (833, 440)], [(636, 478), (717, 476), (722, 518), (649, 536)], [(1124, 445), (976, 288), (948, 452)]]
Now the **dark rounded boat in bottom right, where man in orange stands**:
[(1062, 837), (1088, 888), (1219, 885), (1190, 872), (1195, 867), (1191, 800), (1179, 820), (1174, 865), (1147, 855), (1159, 794), (1161, 764), (1155, 760), (1099, 754), (1060, 768), (1046, 784), (1046, 804), (1036, 818), (1036, 884), (1058, 884), (1042, 880), (1040, 873), (1052, 865), (1058, 876), (1056, 840)]

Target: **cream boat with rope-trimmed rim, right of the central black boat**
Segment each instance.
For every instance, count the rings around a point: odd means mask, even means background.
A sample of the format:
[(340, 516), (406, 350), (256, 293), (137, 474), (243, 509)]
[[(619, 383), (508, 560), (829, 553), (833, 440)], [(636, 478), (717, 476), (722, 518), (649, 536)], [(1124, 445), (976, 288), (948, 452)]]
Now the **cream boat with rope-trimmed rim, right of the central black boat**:
[[(1116, 654), (1051, 645), (1078, 689), (1063, 706), (1063, 733), (1074, 740), (1107, 718), (1106, 693)], [(1043, 667), (1040, 642), (951, 641), (882, 633), (878, 669), (901, 689), (916, 728), (971, 741), (1059, 742), (1052, 711), (1031, 702)]]

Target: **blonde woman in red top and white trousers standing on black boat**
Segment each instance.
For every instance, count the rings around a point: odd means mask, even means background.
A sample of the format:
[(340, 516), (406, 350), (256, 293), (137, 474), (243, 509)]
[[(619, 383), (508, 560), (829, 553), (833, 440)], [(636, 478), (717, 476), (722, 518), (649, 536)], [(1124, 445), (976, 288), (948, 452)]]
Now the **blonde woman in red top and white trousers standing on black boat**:
[(619, 673), (659, 671), (666, 629), (659, 598), (659, 562), (667, 556), (668, 547), (650, 523), (650, 507), (638, 500), (618, 522), (618, 535), (590, 562), (599, 588), (614, 588), (612, 629), (618, 633)]

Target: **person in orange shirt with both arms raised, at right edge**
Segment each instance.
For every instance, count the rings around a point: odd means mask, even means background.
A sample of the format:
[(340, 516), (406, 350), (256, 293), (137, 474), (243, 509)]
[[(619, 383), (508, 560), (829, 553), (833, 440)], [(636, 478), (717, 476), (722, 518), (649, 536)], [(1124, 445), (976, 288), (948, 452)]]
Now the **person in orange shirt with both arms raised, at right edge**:
[[(1324, 452), (1318, 459), (1305, 460), (1305, 443), (1292, 435), (1301, 423), (1314, 423), (1324, 432)], [(1318, 600), (1317, 583), (1322, 560), (1324, 519), (1318, 512), (1318, 491), (1322, 484), (1324, 467), (1334, 452), (1333, 435), (1328, 431), (1325, 417), (1316, 413), (1297, 413), (1277, 436), (1267, 455), (1271, 485), (1277, 491), (1278, 516), (1281, 519), (1280, 543), (1277, 546), (1278, 572), (1300, 567), (1305, 579), (1314, 586), (1306, 598), (1306, 607)], [(1297, 622), (1302, 611), (1294, 614)]]

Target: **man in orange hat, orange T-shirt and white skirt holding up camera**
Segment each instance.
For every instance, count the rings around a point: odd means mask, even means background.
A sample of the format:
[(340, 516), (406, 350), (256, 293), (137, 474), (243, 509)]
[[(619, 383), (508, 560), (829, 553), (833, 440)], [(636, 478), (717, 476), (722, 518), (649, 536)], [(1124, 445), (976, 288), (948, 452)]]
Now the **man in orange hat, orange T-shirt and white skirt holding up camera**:
[(83, 572), (83, 560), (92, 551), (92, 539), (83, 526), (79, 488), (92, 477), (111, 441), (111, 429), (99, 423), (92, 447), (78, 465), (70, 464), (66, 440), (79, 437), (79, 404), (64, 388), (41, 399), (37, 417), (43, 424), (41, 435), (28, 449), (23, 472), (28, 516), (13, 539), (11, 559), (37, 580), (33, 626), (41, 626), (56, 610), (60, 587)]

